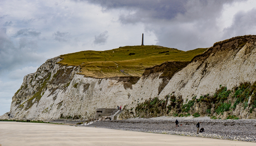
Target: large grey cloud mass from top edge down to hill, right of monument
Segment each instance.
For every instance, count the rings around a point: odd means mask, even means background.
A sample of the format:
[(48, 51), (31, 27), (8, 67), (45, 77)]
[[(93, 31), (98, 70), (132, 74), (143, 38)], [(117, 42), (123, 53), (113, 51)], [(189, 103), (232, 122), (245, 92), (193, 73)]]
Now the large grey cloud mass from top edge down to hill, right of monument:
[(145, 31), (155, 34), (157, 45), (186, 51), (210, 47), (216, 41), (221, 41), (221, 36), (216, 36), (216, 32), (220, 31), (217, 20), (221, 16), (224, 4), (232, 4), (238, 0), (83, 1), (98, 4), (103, 11), (126, 9), (127, 13), (120, 11), (121, 23), (141, 22), (145, 26)]

